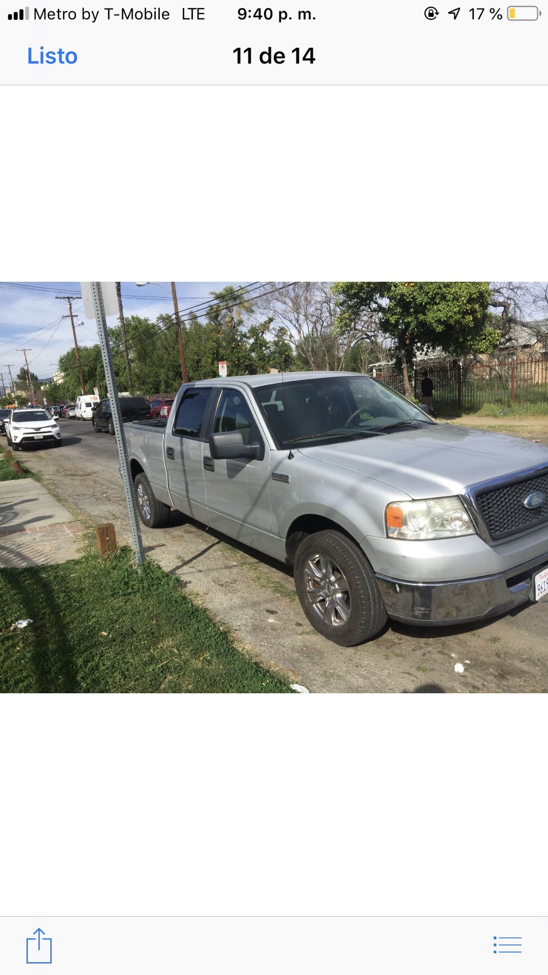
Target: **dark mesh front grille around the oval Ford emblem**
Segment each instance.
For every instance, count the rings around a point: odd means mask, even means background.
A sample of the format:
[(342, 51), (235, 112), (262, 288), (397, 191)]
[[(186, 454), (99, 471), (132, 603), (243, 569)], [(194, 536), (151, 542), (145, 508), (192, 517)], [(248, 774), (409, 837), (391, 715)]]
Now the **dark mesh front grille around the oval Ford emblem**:
[[(538, 508), (526, 508), (526, 498), (536, 491), (546, 495), (544, 502)], [(479, 490), (475, 498), (493, 541), (544, 525), (548, 522), (548, 470), (512, 484)]]

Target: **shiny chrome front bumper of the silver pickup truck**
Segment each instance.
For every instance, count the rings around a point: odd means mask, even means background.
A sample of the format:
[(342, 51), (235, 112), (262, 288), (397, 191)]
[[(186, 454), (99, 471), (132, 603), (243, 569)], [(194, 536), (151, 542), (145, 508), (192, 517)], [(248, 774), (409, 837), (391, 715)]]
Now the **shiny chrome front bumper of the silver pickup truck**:
[(497, 575), (455, 582), (406, 582), (376, 573), (384, 608), (391, 619), (422, 626), (468, 623), (499, 616), (534, 602), (534, 576), (548, 566), (548, 553)]

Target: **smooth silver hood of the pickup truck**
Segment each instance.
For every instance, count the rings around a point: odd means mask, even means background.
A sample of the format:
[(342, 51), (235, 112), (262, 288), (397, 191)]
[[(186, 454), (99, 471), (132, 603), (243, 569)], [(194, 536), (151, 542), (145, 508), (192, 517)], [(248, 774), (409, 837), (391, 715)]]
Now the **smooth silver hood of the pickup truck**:
[(548, 448), (540, 444), (449, 423), (391, 431), (350, 443), (299, 448), (299, 453), (391, 485), (412, 498), (459, 494), (480, 481), (512, 475), (537, 464), (548, 466)]

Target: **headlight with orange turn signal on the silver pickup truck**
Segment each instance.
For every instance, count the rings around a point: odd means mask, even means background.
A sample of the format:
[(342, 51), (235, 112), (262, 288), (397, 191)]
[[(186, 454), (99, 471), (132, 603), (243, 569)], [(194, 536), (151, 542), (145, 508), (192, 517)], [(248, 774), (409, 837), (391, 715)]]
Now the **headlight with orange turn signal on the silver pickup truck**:
[(417, 541), (476, 534), (470, 516), (458, 497), (396, 501), (386, 508), (385, 520), (388, 538)]

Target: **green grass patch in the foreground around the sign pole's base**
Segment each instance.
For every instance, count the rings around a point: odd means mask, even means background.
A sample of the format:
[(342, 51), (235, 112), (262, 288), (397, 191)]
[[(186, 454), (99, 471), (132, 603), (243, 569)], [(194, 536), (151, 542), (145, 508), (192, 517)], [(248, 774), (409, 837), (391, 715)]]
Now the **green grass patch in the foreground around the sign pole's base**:
[[(18, 619), (33, 620), (20, 630)], [(0, 570), (2, 693), (265, 693), (289, 683), (241, 653), (176, 577), (130, 549)]]

